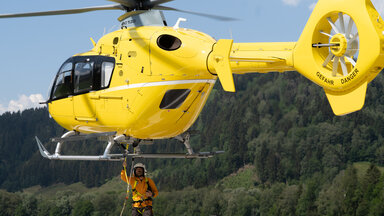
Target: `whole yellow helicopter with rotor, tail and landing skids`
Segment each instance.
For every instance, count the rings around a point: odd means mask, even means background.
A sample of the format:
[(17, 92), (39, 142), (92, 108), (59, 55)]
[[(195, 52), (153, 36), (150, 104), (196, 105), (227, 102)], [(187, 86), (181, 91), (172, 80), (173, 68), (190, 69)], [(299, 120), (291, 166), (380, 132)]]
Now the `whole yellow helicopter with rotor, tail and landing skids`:
[[(298, 71), (324, 88), (336, 115), (360, 110), (367, 85), (384, 67), (384, 21), (370, 0), (319, 0), (298, 42), (233, 43), (202, 32), (167, 26), (161, 10), (172, 0), (110, 0), (116, 5), (0, 15), (0, 18), (123, 10), (121, 29), (60, 67), (46, 102), (55, 121), (69, 132), (50, 154), (54, 160), (206, 158), (195, 153), (188, 129), (217, 80), (235, 92), (233, 74)], [(200, 14), (206, 15), (206, 14)], [(212, 18), (226, 19), (220, 16)], [(64, 141), (108, 137), (103, 155), (61, 155)], [(187, 154), (111, 154), (115, 143), (152, 143), (176, 138)]]

